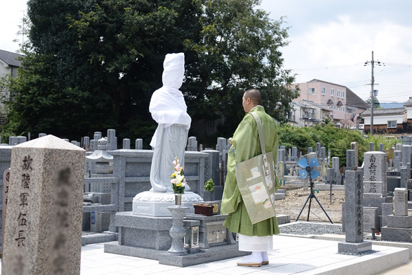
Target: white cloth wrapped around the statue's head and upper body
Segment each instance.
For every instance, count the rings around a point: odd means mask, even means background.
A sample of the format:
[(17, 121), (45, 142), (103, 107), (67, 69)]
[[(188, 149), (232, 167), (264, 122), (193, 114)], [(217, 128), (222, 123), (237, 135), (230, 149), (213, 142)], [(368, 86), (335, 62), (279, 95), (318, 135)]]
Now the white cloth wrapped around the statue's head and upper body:
[[(152, 118), (158, 124), (165, 124), (165, 128), (172, 124), (183, 124), (185, 129), (190, 129), (192, 119), (187, 114), (185, 98), (179, 91), (185, 74), (185, 54), (166, 54), (163, 67), (163, 87), (157, 89), (150, 100)], [(156, 144), (155, 141), (156, 133), (150, 145)]]

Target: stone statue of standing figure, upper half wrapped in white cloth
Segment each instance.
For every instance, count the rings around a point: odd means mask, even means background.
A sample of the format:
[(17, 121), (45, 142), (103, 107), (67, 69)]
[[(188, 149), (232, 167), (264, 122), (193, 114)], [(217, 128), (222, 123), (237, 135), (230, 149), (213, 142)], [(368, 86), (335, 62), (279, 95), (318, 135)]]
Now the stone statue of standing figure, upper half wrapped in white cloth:
[[(167, 54), (163, 67), (163, 87), (153, 93), (149, 105), (152, 118), (159, 124), (150, 142), (155, 150), (150, 169), (152, 192), (173, 192), (170, 183), (173, 160), (177, 157), (181, 164), (185, 163), (187, 133), (192, 122), (179, 91), (185, 74), (185, 55)], [(185, 190), (190, 190), (189, 186)]]

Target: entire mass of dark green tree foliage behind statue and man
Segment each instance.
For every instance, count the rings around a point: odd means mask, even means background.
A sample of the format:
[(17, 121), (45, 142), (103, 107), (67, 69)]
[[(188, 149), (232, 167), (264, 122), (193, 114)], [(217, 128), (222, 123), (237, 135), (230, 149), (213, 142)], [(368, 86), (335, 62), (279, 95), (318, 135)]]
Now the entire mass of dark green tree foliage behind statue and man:
[(157, 126), (148, 104), (162, 86), (165, 54), (184, 52), (181, 91), (194, 123), (224, 117), (218, 135), (230, 136), (250, 88), (260, 89), (266, 111), (283, 121), (297, 97), (279, 52), (287, 28), (259, 3), (29, 0), (30, 44), (10, 85), (9, 119), (19, 134), (78, 138), (114, 128), (120, 138), (148, 143)]

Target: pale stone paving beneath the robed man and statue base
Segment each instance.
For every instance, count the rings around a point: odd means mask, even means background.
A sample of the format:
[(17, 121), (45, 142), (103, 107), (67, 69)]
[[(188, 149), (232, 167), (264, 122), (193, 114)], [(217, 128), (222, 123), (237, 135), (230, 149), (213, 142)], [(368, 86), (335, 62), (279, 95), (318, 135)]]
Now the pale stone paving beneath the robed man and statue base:
[[(405, 263), (407, 250), (372, 245), (377, 253), (366, 256), (338, 254), (336, 241), (274, 236), (275, 250), (268, 253), (269, 265), (238, 267), (240, 258), (190, 267), (159, 265), (158, 261), (104, 253), (104, 243), (82, 247), (81, 275), (207, 275), (207, 274), (412, 274), (412, 264)], [(407, 256), (408, 257), (408, 256)], [(406, 259), (407, 259), (406, 257)], [(403, 260), (400, 260), (402, 258)], [(390, 264), (398, 261), (396, 267)], [(382, 272), (382, 270), (386, 270)], [(1, 273), (0, 273), (1, 274)]]

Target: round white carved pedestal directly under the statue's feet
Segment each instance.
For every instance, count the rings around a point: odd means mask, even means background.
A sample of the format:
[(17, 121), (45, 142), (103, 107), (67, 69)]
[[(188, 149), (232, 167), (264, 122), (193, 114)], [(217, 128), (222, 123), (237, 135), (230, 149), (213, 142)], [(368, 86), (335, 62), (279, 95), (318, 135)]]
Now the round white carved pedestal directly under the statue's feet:
[[(193, 204), (202, 203), (201, 196), (194, 192), (182, 195), (182, 206), (188, 206), (187, 214), (194, 214)], [(172, 217), (168, 206), (174, 206), (173, 192), (140, 192), (133, 199), (132, 213), (140, 216)]]

